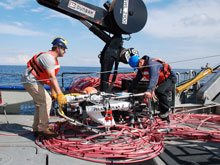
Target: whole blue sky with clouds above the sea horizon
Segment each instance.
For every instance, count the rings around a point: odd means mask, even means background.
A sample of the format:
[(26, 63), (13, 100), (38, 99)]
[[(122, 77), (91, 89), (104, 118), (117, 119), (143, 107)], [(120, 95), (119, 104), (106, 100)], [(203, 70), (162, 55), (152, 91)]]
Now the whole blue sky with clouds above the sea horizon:
[[(106, 1), (86, 0), (99, 7)], [(124, 42), (125, 48), (161, 58), (174, 68), (196, 69), (220, 62), (220, 0), (144, 2), (146, 26)], [(69, 49), (59, 58), (61, 65), (100, 66), (98, 54), (105, 44), (78, 20), (36, 0), (1, 0), (0, 15), (0, 65), (25, 65), (34, 54), (49, 50), (55, 36), (63, 36)]]

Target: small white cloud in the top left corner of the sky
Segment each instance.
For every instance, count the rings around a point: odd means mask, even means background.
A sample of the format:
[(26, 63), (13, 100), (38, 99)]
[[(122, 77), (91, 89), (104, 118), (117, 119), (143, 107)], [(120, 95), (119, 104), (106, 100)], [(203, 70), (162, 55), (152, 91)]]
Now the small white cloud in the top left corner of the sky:
[(16, 7), (24, 7), (27, 2), (30, 2), (30, 0), (1, 0), (0, 6), (11, 10)]

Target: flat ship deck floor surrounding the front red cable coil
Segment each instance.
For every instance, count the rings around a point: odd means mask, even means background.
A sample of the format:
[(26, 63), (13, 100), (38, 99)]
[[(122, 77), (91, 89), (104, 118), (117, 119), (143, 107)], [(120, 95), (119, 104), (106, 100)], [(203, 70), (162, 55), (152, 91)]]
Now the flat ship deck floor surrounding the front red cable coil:
[[(2, 165), (93, 165), (96, 162), (85, 161), (65, 155), (52, 153), (35, 144), (31, 132), (33, 115), (0, 114), (0, 164)], [(52, 117), (51, 122), (60, 120)], [(8, 123), (7, 123), (8, 121)], [(29, 132), (27, 134), (27, 132)], [(165, 138), (165, 150), (154, 159), (135, 163), (146, 164), (220, 164), (220, 143), (188, 140), (172, 136)]]

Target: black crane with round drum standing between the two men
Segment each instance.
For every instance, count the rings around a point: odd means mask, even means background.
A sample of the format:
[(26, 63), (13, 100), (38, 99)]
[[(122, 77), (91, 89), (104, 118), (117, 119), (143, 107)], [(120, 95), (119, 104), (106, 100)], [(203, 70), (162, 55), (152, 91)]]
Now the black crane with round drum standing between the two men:
[[(122, 35), (139, 32), (147, 22), (147, 9), (142, 0), (106, 1), (104, 8), (81, 0), (37, 0), (39, 4), (82, 22), (91, 32), (105, 42), (100, 54), (100, 91), (109, 91), (109, 77), (115, 64), (113, 79), (117, 75), (123, 47)], [(112, 81), (114, 82), (114, 81)]]

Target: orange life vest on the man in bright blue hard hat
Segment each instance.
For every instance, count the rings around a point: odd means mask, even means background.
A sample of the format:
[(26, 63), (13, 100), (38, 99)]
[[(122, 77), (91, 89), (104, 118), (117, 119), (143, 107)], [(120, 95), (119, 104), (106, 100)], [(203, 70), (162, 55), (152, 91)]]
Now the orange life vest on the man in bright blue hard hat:
[[(170, 75), (170, 71), (171, 71), (171, 66), (169, 66), (169, 64), (165, 63), (164, 61), (162, 61), (161, 59), (153, 59), (153, 60), (150, 60), (149, 63), (151, 61), (158, 61), (160, 62), (162, 65), (163, 65), (163, 68), (160, 69), (159, 71), (159, 79), (158, 79), (158, 83), (157, 85), (159, 85), (160, 83), (162, 83), (164, 80), (166, 80), (169, 75)], [(143, 76), (149, 80), (150, 79), (150, 76), (149, 76), (149, 69), (148, 67), (146, 67), (144, 69), (144, 71), (142, 72)]]

